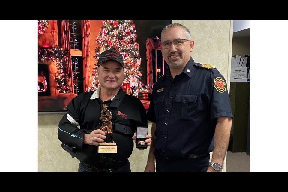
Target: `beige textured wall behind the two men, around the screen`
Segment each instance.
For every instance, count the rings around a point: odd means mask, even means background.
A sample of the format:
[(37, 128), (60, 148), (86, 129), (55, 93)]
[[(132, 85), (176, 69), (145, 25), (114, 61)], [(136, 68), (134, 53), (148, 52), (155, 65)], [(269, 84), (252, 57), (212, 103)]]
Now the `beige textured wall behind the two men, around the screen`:
[[(233, 21), (173, 21), (187, 26), (195, 47), (191, 56), (196, 62), (214, 65), (223, 74), (229, 91), (232, 55)], [(90, 23), (91, 26), (93, 22)], [(94, 38), (91, 37), (91, 41)], [(93, 46), (92, 46), (93, 47)], [(93, 50), (90, 50), (91, 56)], [(92, 64), (92, 62), (91, 62)], [(38, 115), (38, 171), (77, 171), (79, 160), (61, 148), (57, 137), (58, 123), (63, 114)], [(149, 123), (151, 132), (151, 122)], [(132, 171), (143, 171), (148, 150), (134, 148), (129, 161)], [(226, 170), (226, 160), (224, 171)]]

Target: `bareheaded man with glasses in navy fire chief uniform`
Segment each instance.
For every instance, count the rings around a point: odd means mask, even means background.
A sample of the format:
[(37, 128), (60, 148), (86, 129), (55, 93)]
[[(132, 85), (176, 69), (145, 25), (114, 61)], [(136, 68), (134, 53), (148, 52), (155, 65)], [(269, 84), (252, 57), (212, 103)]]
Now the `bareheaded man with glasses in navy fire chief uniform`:
[(221, 171), (233, 118), (226, 81), (214, 66), (194, 62), (187, 27), (166, 26), (161, 41), (169, 69), (153, 87), (145, 171), (155, 171), (155, 159), (156, 171)]

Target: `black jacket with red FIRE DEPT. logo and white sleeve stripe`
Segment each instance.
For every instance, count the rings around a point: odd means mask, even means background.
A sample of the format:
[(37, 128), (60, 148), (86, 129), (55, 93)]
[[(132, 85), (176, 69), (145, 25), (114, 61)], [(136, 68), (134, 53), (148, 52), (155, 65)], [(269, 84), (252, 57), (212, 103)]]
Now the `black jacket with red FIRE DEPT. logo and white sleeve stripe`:
[[(105, 101), (112, 112), (113, 139), (117, 144), (117, 153), (101, 153), (100, 155), (115, 161), (125, 161), (132, 153), (134, 140), (132, 136), (138, 126), (148, 127), (146, 110), (141, 101), (127, 95), (120, 88), (113, 100)], [(84, 163), (96, 168), (109, 169), (109, 165), (97, 162), (98, 146), (83, 144), (83, 135), (91, 130), (99, 129), (101, 111), (104, 102), (97, 91), (85, 92), (72, 99), (67, 106), (67, 114), (59, 122), (58, 138), (65, 146), (72, 147), (69, 153)], [(80, 129), (77, 127), (80, 126)], [(107, 134), (108, 142), (111, 141)], [(65, 149), (66, 150), (66, 149)]]

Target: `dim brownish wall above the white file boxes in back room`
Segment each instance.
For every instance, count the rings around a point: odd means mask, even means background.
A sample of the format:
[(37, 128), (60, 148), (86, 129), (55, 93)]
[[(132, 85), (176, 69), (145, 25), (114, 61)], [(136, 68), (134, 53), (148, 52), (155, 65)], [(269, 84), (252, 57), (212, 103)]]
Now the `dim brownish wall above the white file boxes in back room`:
[(250, 37), (234, 37), (232, 42), (232, 55), (250, 56)]

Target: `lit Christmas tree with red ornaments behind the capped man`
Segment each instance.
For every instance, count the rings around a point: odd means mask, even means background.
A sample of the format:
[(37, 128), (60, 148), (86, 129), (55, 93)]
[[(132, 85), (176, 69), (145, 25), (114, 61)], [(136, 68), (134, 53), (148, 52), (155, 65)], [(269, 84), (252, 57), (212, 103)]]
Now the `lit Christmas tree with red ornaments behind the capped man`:
[(140, 79), (142, 74), (139, 71), (141, 58), (139, 55), (139, 45), (136, 41), (137, 35), (132, 21), (103, 21), (100, 33), (96, 38), (99, 46), (95, 49), (95, 68), (91, 78), (93, 81), (89, 91), (94, 91), (99, 86), (98, 66), (99, 55), (108, 50), (114, 49), (122, 54), (125, 63), (125, 76), (123, 85), (126, 93), (137, 97), (139, 91), (147, 91)]

